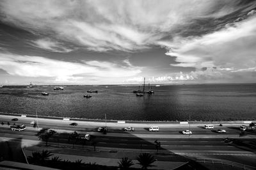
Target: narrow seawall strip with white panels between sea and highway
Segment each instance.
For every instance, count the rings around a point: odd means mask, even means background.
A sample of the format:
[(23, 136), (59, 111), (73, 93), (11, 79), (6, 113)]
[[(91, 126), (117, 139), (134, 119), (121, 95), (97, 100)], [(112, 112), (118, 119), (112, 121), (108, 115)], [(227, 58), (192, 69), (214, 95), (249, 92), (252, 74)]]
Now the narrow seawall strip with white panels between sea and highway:
[[(0, 112), (0, 115), (16, 116), (16, 117), (29, 117), (36, 118), (36, 115), (24, 115), (18, 113), (3, 113)], [(72, 118), (72, 117), (47, 117), (47, 116), (38, 116), (38, 118), (44, 119), (55, 119), (55, 120), (67, 120), (67, 121), (81, 121), (81, 122), (108, 122), (108, 123), (119, 123), (119, 124), (250, 124), (256, 122), (256, 120), (180, 120), (180, 121), (138, 121), (138, 120), (102, 120), (102, 119), (89, 119), (89, 118)]]

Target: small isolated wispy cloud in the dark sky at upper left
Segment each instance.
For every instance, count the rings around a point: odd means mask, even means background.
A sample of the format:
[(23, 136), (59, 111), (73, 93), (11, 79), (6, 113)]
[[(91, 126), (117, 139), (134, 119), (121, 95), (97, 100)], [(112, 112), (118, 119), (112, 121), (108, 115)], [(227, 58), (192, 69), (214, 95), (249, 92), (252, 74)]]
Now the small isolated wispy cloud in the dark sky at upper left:
[(65, 46), (61, 45), (61, 43), (52, 41), (49, 38), (37, 39), (36, 41), (32, 41), (31, 45), (51, 52), (67, 53), (72, 51), (72, 49), (66, 48)]

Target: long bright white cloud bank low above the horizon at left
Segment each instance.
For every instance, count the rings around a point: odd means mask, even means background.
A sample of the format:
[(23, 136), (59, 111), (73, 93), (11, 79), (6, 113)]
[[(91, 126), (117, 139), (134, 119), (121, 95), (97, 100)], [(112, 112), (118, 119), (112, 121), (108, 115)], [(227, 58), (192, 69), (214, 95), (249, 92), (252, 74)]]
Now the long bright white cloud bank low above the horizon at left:
[[(10, 53), (0, 53), (0, 59), (0, 69), (3, 69), (8, 74), (34, 78), (55, 78), (56, 81), (76, 82), (76, 80), (81, 80), (86, 78), (86, 76), (118, 78), (134, 76), (141, 72), (140, 67), (134, 67), (131, 64), (121, 66), (97, 60), (77, 63)], [(126, 60), (125, 62), (129, 61)]]

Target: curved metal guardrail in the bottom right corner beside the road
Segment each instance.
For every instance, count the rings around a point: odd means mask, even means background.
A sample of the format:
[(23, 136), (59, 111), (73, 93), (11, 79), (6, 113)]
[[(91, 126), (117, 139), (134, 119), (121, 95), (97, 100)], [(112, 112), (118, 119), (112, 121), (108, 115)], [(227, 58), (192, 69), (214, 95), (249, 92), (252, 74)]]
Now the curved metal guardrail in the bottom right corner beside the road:
[(239, 167), (239, 168), (245, 169), (245, 170), (256, 169), (256, 167), (248, 166), (248, 165), (244, 165), (244, 164), (239, 164), (237, 162), (232, 162), (232, 161), (229, 161), (229, 160), (205, 159), (205, 158), (196, 158), (195, 160), (196, 160), (196, 162), (204, 162), (204, 163), (211, 163), (211, 164), (224, 164), (224, 165), (227, 165), (227, 166)]

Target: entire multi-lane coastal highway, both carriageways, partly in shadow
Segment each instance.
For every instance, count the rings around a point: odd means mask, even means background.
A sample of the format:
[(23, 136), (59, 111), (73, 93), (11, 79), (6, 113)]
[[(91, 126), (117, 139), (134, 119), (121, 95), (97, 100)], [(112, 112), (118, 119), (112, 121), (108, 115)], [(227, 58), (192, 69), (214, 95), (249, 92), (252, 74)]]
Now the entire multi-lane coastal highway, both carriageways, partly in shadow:
[[(0, 139), (1, 141), (12, 140), (19, 142), (23, 141), (22, 145), (32, 146), (42, 143), (35, 136), (38, 131), (30, 124), (34, 118), (19, 117), (18, 121), (11, 121), (12, 116), (0, 115)], [(25, 124), (26, 130), (22, 132), (10, 131), (10, 124)], [(152, 124), (118, 124), (108, 123), (108, 134), (97, 132), (98, 127), (104, 127), (104, 122), (77, 122), (77, 126), (70, 126), (71, 121), (54, 120), (39, 118), (38, 124), (40, 128), (50, 127), (57, 131), (49, 140), (50, 145), (87, 147), (92, 148), (93, 142), (97, 148), (102, 150), (127, 150), (140, 152), (156, 152), (156, 143), (161, 142), (159, 152), (175, 153), (179, 155), (193, 155), (196, 157), (206, 157), (218, 159), (221, 155), (248, 156), (255, 158), (255, 142), (256, 136), (253, 133), (246, 132), (244, 136), (240, 136), (239, 124), (223, 124), (222, 127), (214, 125), (215, 129), (225, 129), (227, 133), (220, 134), (215, 131), (204, 129), (204, 124), (191, 124), (190, 130), (193, 132), (191, 136), (184, 135), (181, 131), (189, 129), (188, 124), (154, 124), (159, 126), (159, 132), (149, 132), (148, 127)], [(134, 127), (134, 132), (125, 132), (124, 127)], [(68, 136), (72, 132), (79, 134), (89, 133), (92, 135), (91, 141), (70, 141)], [(232, 139), (232, 143), (225, 143), (224, 139)], [(198, 156), (199, 155), (199, 156)], [(209, 156), (211, 155), (211, 156)], [(223, 158), (221, 158), (223, 159)], [(228, 159), (228, 158), (227, 158)], [(243, 159), (240, 159), (243, 160)], [(250, 159), (249, 159), (250, 160)], [(248, 160), (248, 164), (253, 164)], [(239, 160), (236, 160), (239, 162)], [(244, 163), (243, 161), (241, 163)]]

